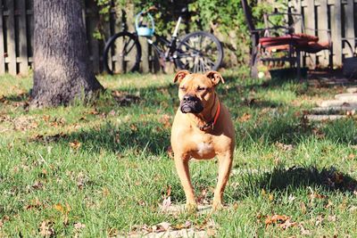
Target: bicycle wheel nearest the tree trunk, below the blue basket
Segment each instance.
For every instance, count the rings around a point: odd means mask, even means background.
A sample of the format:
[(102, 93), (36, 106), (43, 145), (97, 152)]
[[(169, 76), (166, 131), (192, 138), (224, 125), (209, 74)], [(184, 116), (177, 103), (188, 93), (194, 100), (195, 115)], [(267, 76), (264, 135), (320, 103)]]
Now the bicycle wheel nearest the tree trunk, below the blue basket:
[(109, 38), (104, 47), (104, 70), (110, 74), (132, 72), (139, 69), (141, 47), (137, 37), (120, 32)]

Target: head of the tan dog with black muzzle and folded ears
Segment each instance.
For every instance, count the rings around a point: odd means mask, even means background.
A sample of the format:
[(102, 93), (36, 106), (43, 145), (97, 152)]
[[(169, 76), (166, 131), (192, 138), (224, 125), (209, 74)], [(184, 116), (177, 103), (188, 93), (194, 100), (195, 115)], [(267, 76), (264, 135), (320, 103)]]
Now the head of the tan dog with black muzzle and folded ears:
[(179, 70), (173, 81), (179, 82), (180, 110), (183, 113), (200, 113), (204, 108), (211, 108), (215, 100), (214, 87), (220, 81), (224, 83), (217, 71), (191, 74), (187, 70)]

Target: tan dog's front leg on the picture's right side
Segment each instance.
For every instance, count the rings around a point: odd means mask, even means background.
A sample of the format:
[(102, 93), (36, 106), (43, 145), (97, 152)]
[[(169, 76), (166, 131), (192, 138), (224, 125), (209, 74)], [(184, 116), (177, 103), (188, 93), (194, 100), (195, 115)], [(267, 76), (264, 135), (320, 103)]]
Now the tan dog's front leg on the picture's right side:
[(213, 209), (221, 209), (223, 207), (223, 192), (228, 182), (228, 177), (230, 169), (232, 168), (233, 153), (225, 152), (223, 154), (218, 154), (219, 161), (219, 176), (216, 189), (214, 191)]

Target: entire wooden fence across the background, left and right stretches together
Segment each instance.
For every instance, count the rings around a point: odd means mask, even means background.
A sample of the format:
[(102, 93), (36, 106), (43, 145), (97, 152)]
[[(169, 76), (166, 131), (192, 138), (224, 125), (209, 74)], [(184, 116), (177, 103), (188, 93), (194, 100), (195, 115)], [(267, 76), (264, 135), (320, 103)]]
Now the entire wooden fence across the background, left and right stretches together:
[[(311, 67), (328, 64), (340, 67), (345, 57), (352, 53), (345, 44), (357, 45), (357, 0), (289, 0), (293, 12), (303, 14), (305, 27), (312, 29), (306, 33), (327, 40), (330, 29), (333, 53), (327, 51), (304, 57), (303, 62)], [(87, 30), (87, 45), (95, 72), (101, 72), (104, 40), (97, 40), (93, 33), (99, 23), (98, 9), (94, 0), (85, 0), (84, 21)], [(32, 67), (33, 46), (33, 0), (0, 0), (0, 75), (26, 74)], [(112, 11), (110, 21), (101, 26), (109, 37), (120, 30), (120, 22)], [(130, 24), (129, 24), (130, 27)], [(131, 26), (132, 27), (132, 26)], [(143, 56), (142, 71), (153, 71), (153, 57), (145, 40), (141, 40)]]

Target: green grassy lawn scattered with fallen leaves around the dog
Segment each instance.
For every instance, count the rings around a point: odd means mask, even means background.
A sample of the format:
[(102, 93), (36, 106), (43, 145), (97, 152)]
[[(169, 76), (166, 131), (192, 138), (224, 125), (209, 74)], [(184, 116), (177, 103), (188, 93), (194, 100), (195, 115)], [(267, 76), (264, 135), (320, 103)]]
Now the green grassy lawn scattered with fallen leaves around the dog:
[[(98, 78), (99, 101), (35, 111), (31, 78), (0, 78), (0, 237), (128, 235), (161, 222), (217, 237), (357, 237), (356, 120), (303, 119), (344, 87), (223, 73), (217, 90), (237, 133), (227, 208), (170, 214), (160, 209), (169, 190), (185, 202), (169, 150), (173, 76)], [(216, 161), (190, 168), (199, 201), (211, 202)]]

